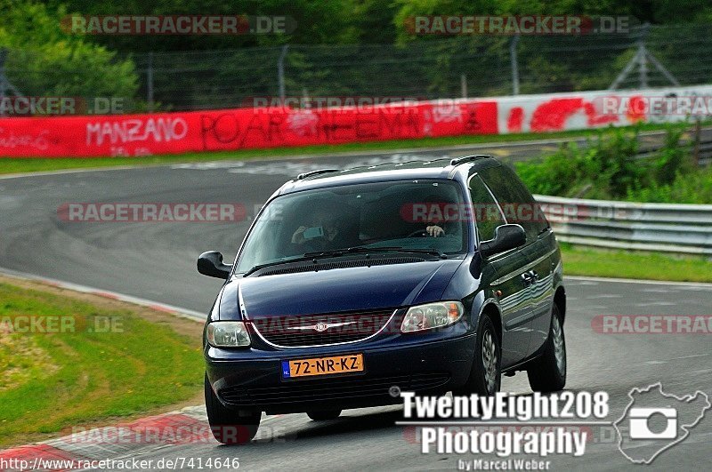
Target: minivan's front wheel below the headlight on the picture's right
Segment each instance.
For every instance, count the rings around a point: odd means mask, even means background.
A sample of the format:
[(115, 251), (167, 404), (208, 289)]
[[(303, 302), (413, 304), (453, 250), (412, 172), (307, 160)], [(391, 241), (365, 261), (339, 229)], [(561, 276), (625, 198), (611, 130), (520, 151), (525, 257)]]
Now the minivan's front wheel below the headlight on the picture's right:
[(463, 388), (453, 395), (493, 396), (502, 383), (502, 344), (490, 316), (483, 313), (477, 325), (474, 360)]

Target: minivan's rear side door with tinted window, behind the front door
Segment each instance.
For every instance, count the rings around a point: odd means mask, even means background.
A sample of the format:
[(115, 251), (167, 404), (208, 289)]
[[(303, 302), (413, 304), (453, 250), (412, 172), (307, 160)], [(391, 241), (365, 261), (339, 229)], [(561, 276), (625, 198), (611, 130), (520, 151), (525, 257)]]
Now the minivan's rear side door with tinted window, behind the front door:
[(524, 324), (531, 332), (527, 355), (546, 341), (554, 302), (554, 236), (538, 204), (522, 180), (505, 165), (488, 169), (483, 180), (497, 197), (508, 223), (522, 225), (527, 243), (520, 248), (522, 281), (526, 285), (527, 318)]

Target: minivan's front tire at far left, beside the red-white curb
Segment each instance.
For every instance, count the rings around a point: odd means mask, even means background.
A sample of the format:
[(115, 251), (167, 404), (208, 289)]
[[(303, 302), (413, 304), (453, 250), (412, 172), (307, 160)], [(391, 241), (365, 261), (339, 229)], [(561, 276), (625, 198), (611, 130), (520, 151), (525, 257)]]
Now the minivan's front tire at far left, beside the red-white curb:
[(222, 444), (249, 443), (260, 428), (262, 412), (251, 412), (243, 416), (235, 410), (225, 408), (215, 396), (207, 374), (205, 383), (207, 421), (215, 440)]

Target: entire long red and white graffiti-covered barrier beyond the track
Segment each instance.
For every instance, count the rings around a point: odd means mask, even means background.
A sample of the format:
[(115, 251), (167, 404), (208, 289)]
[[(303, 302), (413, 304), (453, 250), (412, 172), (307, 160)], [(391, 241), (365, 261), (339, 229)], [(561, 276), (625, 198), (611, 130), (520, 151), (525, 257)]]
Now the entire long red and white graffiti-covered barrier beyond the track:
[(430, 136), (557, 132), (710, 116), (712, 85), (379, 102), (369, 107), (4, 117), (0, 118), (0, 156), (150, 156)]

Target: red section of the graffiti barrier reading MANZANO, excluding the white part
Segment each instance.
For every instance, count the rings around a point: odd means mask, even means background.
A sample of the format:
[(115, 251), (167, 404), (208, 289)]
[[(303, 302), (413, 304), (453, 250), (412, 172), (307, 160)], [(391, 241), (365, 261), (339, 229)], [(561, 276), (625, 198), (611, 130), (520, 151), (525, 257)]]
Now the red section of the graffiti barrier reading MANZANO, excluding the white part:
[(495, 100), (370, 108), (237, 108), (0, 118), (0, 156), (150, 156), (427, 136), (497, 134)]

